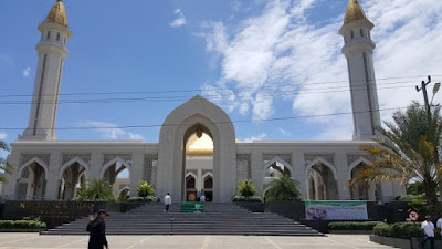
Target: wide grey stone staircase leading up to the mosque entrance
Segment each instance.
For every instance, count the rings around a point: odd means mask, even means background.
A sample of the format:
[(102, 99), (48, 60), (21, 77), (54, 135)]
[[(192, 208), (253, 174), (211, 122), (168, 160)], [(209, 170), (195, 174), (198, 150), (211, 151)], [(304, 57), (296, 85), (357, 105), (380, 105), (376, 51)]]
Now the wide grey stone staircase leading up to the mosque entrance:
[[(179, 212), (171, 205), (162, 212), (161, 204), (146, 204), (128, 212), (110, 214), (107, 235), (250, 235), (318, 236), (319, 232), (271, 212), (251, 212), (234, 204), (204, 204), (203, 212)], [(42, 235), (87, 235), (87, 217), (49, 229)]]

